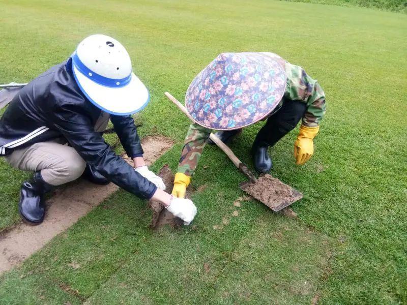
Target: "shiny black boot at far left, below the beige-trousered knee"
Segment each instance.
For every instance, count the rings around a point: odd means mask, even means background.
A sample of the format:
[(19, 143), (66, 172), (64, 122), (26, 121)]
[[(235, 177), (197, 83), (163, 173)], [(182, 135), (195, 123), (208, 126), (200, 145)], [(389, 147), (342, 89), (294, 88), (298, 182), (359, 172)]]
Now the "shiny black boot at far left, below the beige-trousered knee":
[(45, 216), (45, 193), (53, 187), (42, 179), (41, 173), (34, 174), (33, 181), (23, 182), (20, 190), (20, 202), (18, 210), (22, 219), (31, 225), (39, 225)]

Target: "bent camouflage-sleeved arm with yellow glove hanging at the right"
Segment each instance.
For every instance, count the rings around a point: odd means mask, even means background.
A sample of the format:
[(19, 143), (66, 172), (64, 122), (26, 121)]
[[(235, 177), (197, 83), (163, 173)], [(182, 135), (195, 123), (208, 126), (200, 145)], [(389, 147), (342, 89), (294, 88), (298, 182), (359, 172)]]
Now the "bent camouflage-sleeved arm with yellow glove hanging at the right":
[(286, 65), (287, 87), (285, 97), (307, 104), (302, 118), (300, 132), (294, 143), (296, 164), (306, 163), (314, 153), (313, 139), (319, 131), (319, 123), (325, 115), (325, 93), (318, 82), (312, 79), (304, 69), (291, 64)]

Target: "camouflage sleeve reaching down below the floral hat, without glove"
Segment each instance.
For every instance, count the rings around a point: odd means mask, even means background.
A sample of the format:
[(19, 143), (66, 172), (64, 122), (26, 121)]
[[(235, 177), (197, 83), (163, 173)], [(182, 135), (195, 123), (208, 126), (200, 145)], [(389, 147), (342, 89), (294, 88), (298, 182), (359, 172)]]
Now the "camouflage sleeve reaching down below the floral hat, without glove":
[(179, 173), (184, 173), (187, 176), (193, 175), (200, 156), (202, 155), (203, 147), (211, 135), (211, 132), (212, 130), (201, 127), (195, 123), (189, 126), (181, 153), (180, 163), (178, 164)]

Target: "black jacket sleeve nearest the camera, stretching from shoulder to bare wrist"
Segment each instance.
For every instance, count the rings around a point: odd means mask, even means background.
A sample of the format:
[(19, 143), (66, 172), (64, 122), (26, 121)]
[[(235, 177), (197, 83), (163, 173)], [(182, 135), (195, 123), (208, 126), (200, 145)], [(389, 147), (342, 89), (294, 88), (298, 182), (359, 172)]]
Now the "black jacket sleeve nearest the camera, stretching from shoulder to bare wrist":
[(157, 187), (140, 175), (95, 132), (90, 117), (74, 103), (65, 102), (52, 109), (52, 127), (59, 130), (83, 160), (124, 190), (150, 199)]

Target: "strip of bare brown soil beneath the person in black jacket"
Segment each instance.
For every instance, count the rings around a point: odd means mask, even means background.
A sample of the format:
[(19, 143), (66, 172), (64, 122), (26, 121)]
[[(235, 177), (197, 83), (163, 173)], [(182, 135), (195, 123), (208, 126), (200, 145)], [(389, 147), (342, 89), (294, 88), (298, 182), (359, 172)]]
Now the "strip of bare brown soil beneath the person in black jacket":
[[(141, 145), (144, 160), (150, 165), (171, 148), (173, 142), (162, 136), (154, 136), (143, 139)], [(124, 159), (132, 164), (129, 158)], [(53, 197), (47, 200), (47, 213), (42, 224), (30, 226), (21, 223), (0, 235), (0, 275), (41, 249), (118, 189), (112, 183), (99, 186), (82, 179), (57, 189)], [(167, 189), (172, 188), (167, 185)]]

